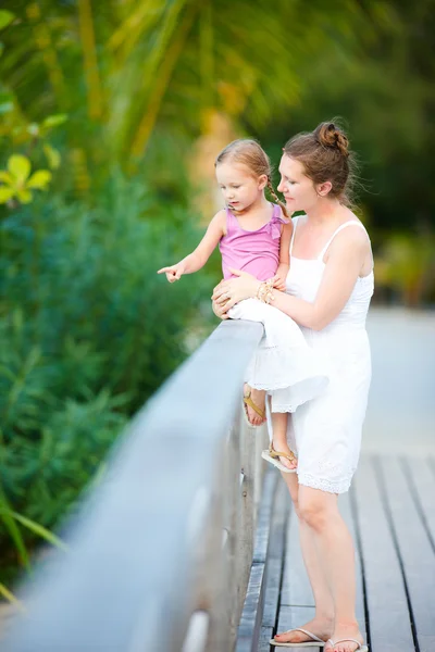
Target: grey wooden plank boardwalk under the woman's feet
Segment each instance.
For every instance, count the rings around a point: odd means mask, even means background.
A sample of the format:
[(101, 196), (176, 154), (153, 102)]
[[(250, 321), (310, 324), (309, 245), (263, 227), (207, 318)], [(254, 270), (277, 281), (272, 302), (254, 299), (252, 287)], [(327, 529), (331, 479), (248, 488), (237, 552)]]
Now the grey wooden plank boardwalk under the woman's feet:
[[(357, 546), (357, 617), (371, 652), (434, 652), (435, 459), (364, 454), (351, 491), (339, 501)], [(261, 587), (257, 591), (261, 626), (252, 639), (259, 643), (249, 648), (245, 609), (237, 651), (281, 650), (270, 645), (272, 636), (302, 625), (314, 612), (298, 523), (281, 479), (269, 526), (264, 577), (264, 594)], [(251, 610), (254, 589), (248, 591)]]

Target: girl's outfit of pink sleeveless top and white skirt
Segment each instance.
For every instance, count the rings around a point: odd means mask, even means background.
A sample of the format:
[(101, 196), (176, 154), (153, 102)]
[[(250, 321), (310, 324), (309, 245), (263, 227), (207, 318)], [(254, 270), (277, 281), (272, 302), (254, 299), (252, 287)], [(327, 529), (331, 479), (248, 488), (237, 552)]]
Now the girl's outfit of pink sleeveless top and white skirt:
[[(229, 267), (248, 272), (259, 280), (275, 275), (279, 262), (281, 227), (286, 221), (278, 205), (264, 226), (244, 230), (226, 211), (226, 236), (220, 242), (225, 278)], [(327, 374), (307, 344), (299, 326), (283, 312), (258, 299), (240, 301), (228, 311), (232, 319), (249, 319), (264, 325), (262, 338), (245, 375), (256, 389), (271, 396), (272, 412), (294, 412), (318, 397), (328, 383)]]

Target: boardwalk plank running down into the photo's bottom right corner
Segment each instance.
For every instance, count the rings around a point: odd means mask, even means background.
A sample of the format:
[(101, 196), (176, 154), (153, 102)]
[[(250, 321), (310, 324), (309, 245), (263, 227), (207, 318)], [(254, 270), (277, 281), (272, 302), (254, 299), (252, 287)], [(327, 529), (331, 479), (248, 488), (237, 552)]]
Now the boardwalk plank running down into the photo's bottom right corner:
[[(435, 649), (435, 554), (397, 459), (377, 461), (402, 560), (420, 652)], [(412, 467), (412, 465), (411, 465)]]

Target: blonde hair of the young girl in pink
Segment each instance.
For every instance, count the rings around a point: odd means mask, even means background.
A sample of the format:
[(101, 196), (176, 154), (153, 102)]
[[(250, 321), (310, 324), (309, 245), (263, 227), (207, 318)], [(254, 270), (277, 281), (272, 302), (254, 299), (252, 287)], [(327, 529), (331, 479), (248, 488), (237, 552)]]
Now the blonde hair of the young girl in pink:
[(239, 138), (238, 140), (233, 140), (233, 142), (227, 145), (217, 154), (216, 160), (214, 161), (214, 167), (216, 167), (220, 163), (224, 163), (225, 161), (246, 165), (246, 167), (248, 167), (257, 177), (265, 175), (268, 177), (268, 189), (270, 193), (281, 206), (284, 215), (288, 218), (287, 209), (285, 204), (277, 198), (272, 186), (271, 161), (257, 140), (250, 140), (249, 138)]

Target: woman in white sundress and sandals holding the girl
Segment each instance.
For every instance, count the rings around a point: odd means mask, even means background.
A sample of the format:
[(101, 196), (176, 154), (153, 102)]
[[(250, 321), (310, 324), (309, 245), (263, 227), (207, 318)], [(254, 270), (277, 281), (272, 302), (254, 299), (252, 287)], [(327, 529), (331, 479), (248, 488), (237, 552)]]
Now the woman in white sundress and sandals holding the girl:
[[(294, 218), (287, 293), (273, 290), (270, 300), (299, 324), (330, 374), (324, 393), (293, 415), (288, 442), (298, 454), (297, 476), (283, 474), (300, 522), (315, 615), (272, 643), (319, 647), (321, 639), (325, 652), (368, 650), (355, 614), (353, 544), (337, 504), (357, 467), (371, 379), (365, 317), (373, 258), (364, 227), (347, 208), (352, 162), (347, 137), (334, 123), (285, 146), (278, 190), (291, 213), (304, 214)], [(235, 303), (263, 296), (260, 281), (238, 276), (214, 290), (214, 310), (223, 318)]]

